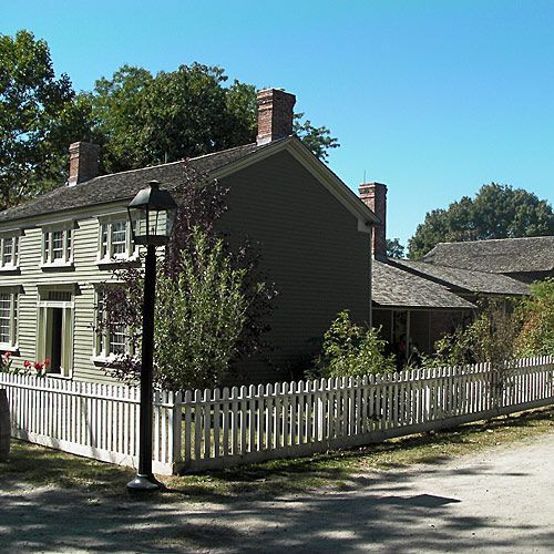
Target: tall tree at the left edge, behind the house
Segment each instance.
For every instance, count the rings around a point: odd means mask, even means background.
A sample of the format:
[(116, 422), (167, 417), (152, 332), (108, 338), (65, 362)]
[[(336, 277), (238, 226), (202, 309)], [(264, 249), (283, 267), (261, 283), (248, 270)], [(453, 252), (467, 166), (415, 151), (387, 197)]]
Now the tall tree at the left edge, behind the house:
[(0, 34), (0, 209), (63, 183), (68, 146), (91, 137), (90, 117), (68, 75), (55, 78), (45, 41)]

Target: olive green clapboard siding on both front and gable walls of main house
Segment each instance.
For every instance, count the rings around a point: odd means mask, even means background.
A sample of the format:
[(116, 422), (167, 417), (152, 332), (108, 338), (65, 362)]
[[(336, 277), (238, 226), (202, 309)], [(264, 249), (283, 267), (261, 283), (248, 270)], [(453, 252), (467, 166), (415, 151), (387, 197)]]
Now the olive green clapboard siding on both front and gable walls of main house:
[[(268, 321), (273, 365), (260, 360), (245, 363), (247, 379), (288, 378), (299, 360), (314, 355), (316, 342), (339, 310), (348, 308), (355, 320), (369, 321), (370, 234), (359, 232), (357, 216), (287, 152), (222, 182), (229, 187), (229, 209), (220, 220), (222, 229), (229, 230), (234, 242), (249, 236), (260, 244), (261, 267), (279, 291)], [(109, 266), (96, 263), (98, 216), (113, 209), (115, 206), (103, 208), (102, 214), (75, 211), (64, 215), (70, 219), (73, 214), (76, 220), (73, 267), (55, 270), (40, 267), (41, 225), (52, 223), (55, 214), (23, 222), (32, 228), (20, 237), (20, 271), (0, 273), (0, 287), (21, 286), (16, 366), (38, 357), (38, 287), (76, 284), (71, 377), (110, 381), (101, 365), (93, 361), (93, 325), (94, 285), (112, 276)]]

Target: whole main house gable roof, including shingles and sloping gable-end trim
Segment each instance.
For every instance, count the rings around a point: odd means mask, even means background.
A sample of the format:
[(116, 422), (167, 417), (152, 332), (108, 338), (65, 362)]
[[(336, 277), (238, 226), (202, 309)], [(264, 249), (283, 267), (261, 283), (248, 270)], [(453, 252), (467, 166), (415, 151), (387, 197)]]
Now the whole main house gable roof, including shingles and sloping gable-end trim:
[(74, 186), (63, 185), (38, 198), (0, 212), (0, 225), (45, 214), (129, 202), (152, 179), (160, 181), (163, 188), (172, 191), (183, 184), (187, 167), (199, 174), (208, 174), (211, 177), (216, 178), (283, 150), (288, 150), (300, 163), (306, 165), (314, 174), (317, 174), (331, 194), (365, 224), (370, 225), (377, 222), (371, 209), (293, 135), (263, 145), (256, 143), (246, 144), (186, 161), (102, 175)]

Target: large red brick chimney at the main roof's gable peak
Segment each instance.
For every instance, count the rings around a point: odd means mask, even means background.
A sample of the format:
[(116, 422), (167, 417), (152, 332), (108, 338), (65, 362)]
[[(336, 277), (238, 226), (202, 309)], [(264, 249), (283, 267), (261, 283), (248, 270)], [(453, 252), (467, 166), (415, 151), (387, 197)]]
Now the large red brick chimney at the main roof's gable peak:
[(293, 107), (296, 96), (279, 89), (258, 92), (258, 144), (293, 134)]

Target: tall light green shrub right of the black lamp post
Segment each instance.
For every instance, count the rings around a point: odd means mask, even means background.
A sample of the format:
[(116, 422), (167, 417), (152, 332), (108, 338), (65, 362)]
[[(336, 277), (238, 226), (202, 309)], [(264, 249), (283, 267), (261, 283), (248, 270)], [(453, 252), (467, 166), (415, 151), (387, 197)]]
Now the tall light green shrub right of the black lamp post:
[(179, 390), (222, 383), (239, 353), (248, 309), (246, 270), (233, 267), (222, 240), (193, 233), (194, 257), (183, 253), (176, 279), (160, 271), (156, 288), (156, 371)]

